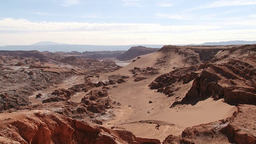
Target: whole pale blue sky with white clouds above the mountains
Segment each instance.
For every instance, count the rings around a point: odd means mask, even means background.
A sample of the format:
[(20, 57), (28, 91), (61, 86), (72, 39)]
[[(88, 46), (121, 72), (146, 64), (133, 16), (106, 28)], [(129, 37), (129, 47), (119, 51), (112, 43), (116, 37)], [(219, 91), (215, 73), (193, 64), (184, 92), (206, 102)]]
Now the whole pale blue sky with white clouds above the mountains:
[(0, 0), (0, 46), (256, 40), (256, 0)]

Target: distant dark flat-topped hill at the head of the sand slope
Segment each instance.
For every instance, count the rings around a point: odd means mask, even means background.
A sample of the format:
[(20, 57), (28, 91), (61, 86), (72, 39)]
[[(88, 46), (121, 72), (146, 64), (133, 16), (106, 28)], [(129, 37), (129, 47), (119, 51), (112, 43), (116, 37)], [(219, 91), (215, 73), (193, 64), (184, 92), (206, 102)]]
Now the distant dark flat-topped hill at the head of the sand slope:
[(118, 56), (116, 59), (118, 60), (131, 60), (132, 58), (136, 58), (137, 56), (141, 56), (144, 54), (150, 54), (153, 52), (157, 52), (160, 48), (146, 48), (145, 46), (134, 46), (129, 50), (124, 52), (121, 56)]

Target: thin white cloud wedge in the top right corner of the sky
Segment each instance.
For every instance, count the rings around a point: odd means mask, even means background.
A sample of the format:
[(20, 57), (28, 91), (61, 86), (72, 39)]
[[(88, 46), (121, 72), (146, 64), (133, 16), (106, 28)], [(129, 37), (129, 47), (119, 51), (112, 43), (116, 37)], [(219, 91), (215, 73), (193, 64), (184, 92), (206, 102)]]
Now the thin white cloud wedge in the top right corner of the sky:
[(225, 6), (246, 6), (246, 5), (256, 5), (256, 0), (218, 0), (210, 4), (205, 4), (192, 8), (190, 10), (206, 9), (206, 8), (219, 8)]

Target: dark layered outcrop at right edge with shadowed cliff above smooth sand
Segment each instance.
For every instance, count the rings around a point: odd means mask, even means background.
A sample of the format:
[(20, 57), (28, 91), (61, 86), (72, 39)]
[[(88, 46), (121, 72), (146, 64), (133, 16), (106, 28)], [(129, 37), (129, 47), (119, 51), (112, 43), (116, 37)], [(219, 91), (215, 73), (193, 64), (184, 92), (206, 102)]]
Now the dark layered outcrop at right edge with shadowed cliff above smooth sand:
[(226, 64), (211, 64), (197, 76), (181, 100), (172, 104), (194, 104), (212, 97), (224, 98), (232, 105), (256, 104), (255, 66), (249, 60), (230, 60)]

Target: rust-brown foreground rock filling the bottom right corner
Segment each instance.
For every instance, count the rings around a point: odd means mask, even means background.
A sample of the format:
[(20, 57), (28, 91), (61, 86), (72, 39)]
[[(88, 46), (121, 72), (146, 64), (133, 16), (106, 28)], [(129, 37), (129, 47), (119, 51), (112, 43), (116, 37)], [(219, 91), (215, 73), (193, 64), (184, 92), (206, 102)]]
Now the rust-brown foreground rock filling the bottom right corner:
[(256, 144), (256, 106), (239, 105), (226, 120), (186, 128), (180, 136), (170, 135), (164, 144), (235, 143)]

